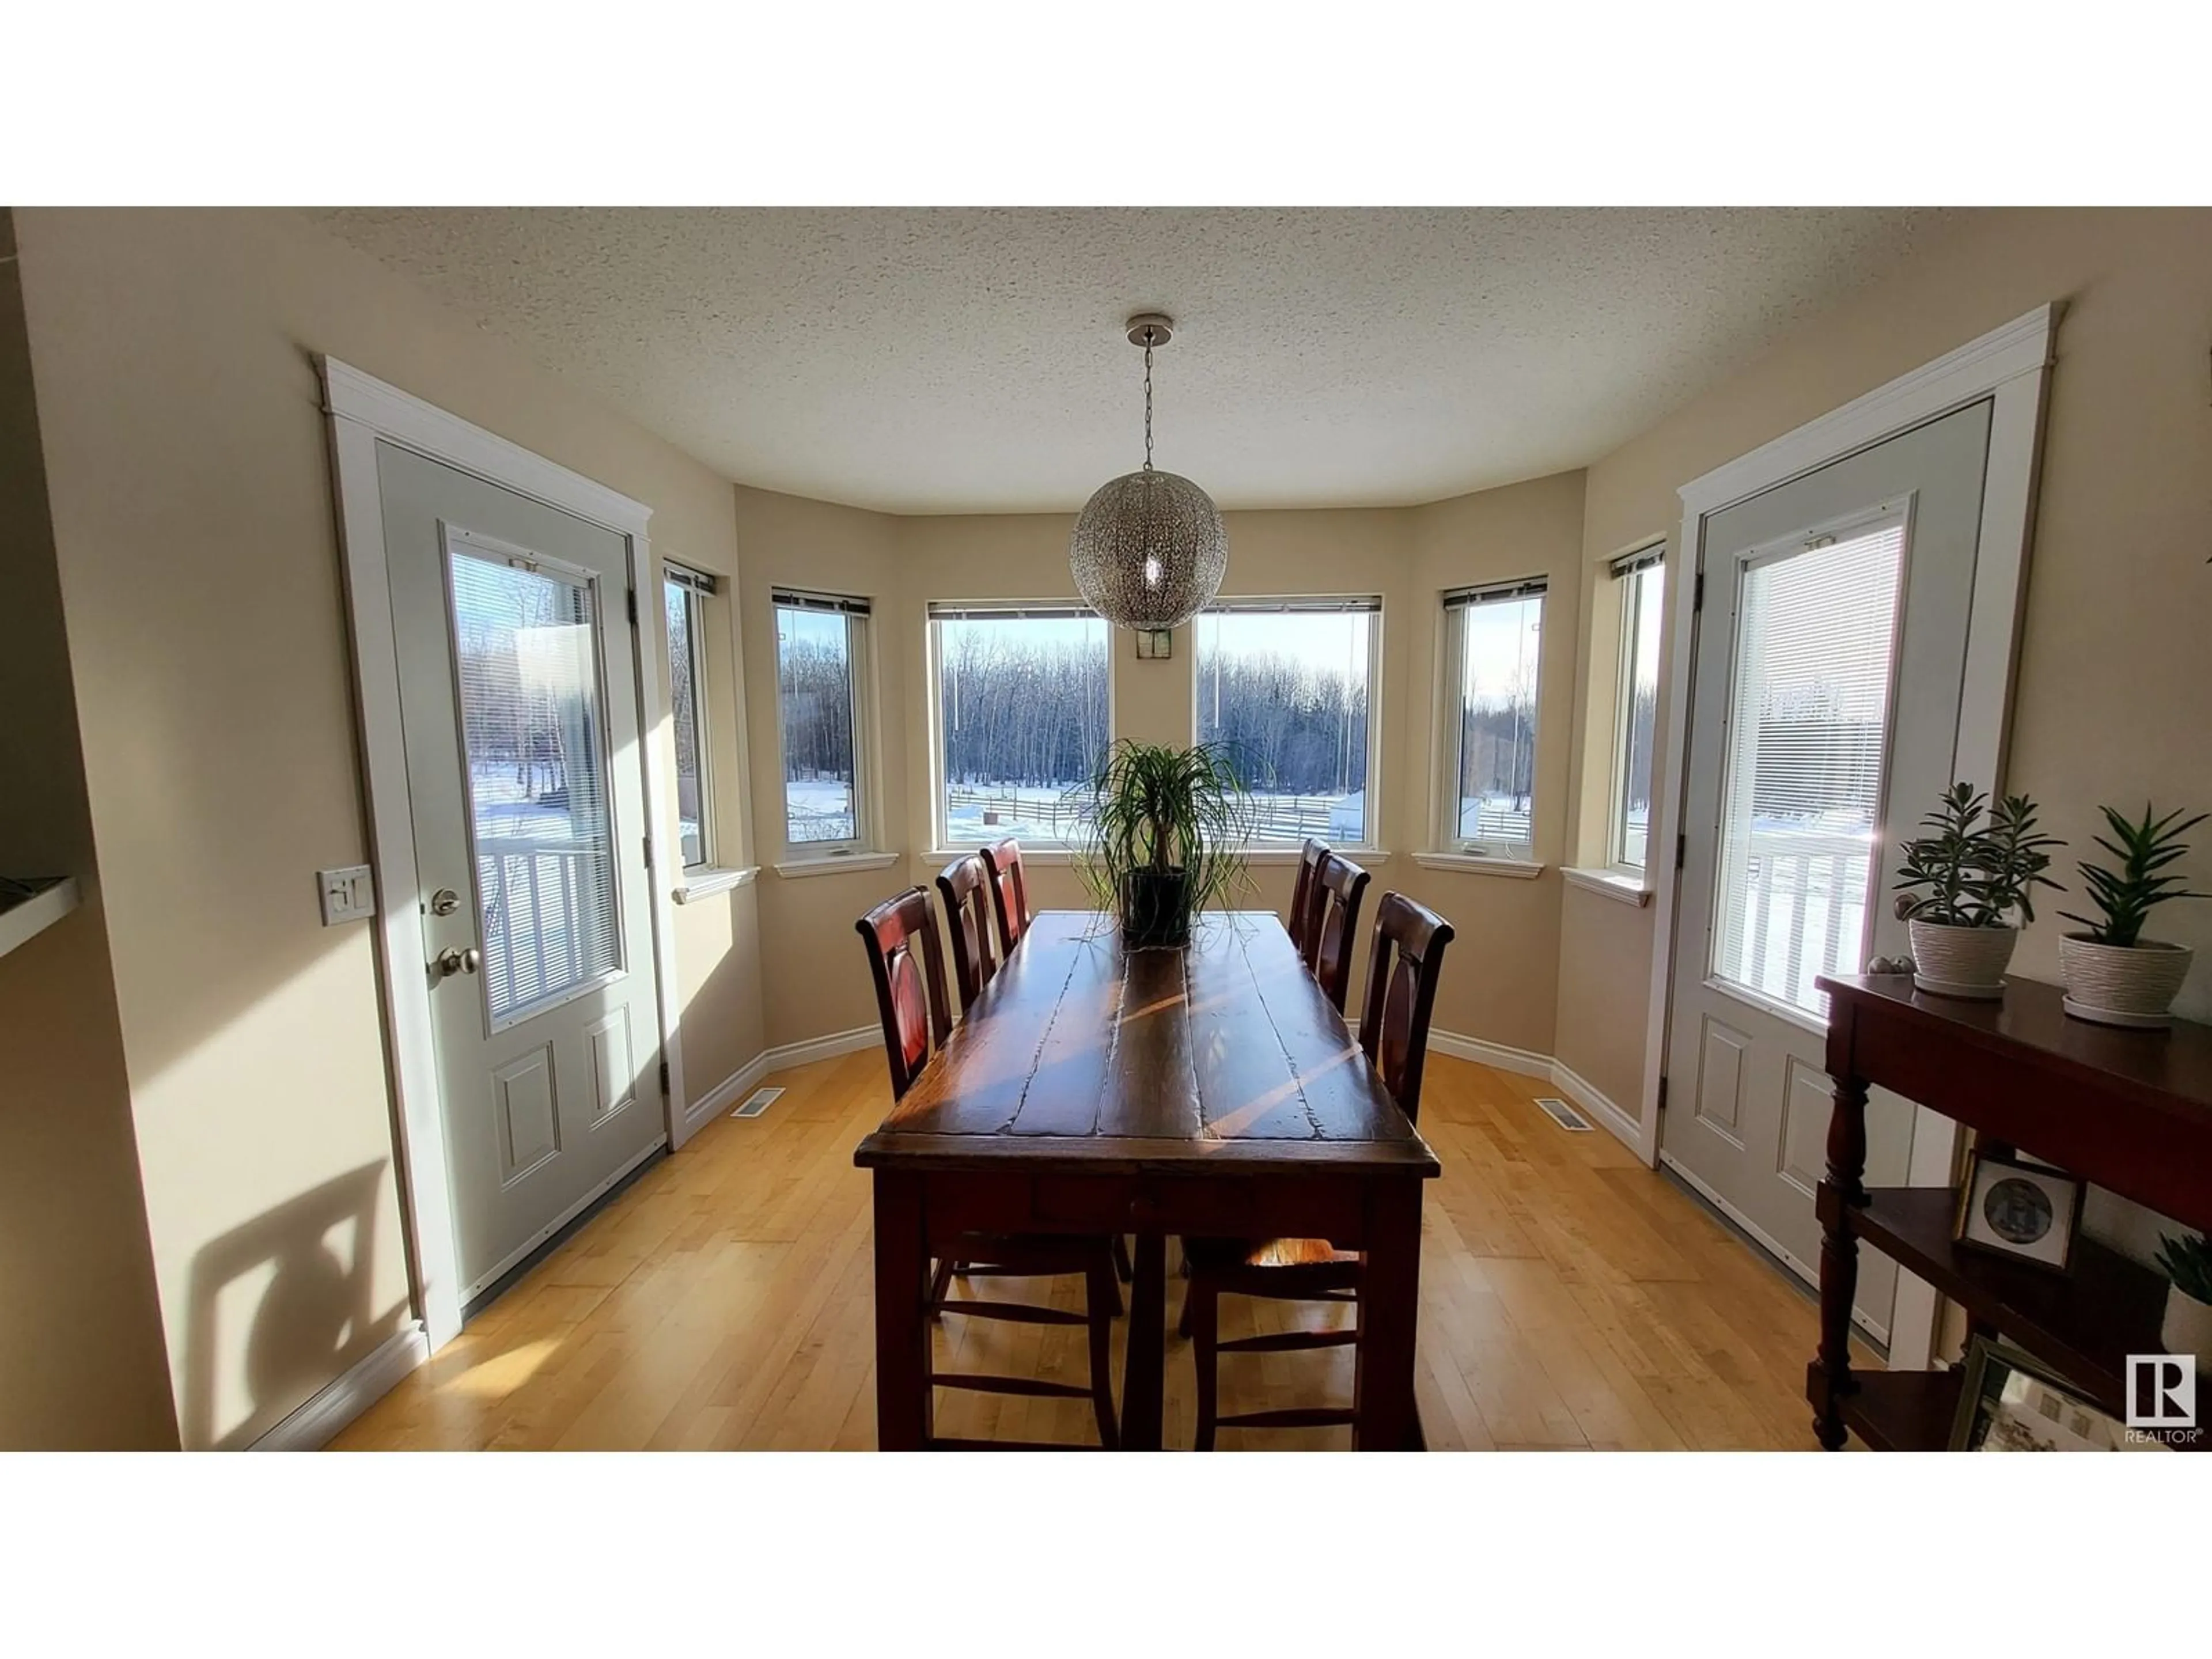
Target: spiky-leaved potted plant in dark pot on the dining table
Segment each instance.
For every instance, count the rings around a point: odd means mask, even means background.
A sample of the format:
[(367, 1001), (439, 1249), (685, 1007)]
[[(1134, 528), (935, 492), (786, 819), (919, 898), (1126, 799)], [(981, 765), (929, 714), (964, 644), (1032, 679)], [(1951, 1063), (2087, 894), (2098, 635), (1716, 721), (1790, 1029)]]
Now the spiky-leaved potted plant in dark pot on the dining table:
[(1188, 945), (1192, 914), (1243, 878), (1250, 796), (1210, 743), (1121, 739), (1075, 787), (1086, 838), (1077, 869), (1130, 947)]

